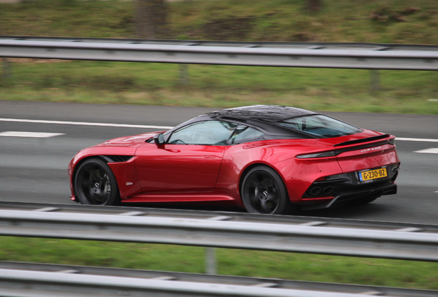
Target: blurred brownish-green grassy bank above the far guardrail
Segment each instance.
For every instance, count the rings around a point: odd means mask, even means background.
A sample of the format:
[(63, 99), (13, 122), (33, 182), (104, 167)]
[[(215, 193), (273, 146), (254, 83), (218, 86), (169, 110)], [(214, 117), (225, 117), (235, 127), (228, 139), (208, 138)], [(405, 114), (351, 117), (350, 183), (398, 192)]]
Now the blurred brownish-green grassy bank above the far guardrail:
[[(317, 12), (307, 1), (170, 0), (167, 33), (156, 38), (438, 44), (436, 0), (320, 0)], [(0, 3), (0, 34), (132, 39), (138, 2)]]

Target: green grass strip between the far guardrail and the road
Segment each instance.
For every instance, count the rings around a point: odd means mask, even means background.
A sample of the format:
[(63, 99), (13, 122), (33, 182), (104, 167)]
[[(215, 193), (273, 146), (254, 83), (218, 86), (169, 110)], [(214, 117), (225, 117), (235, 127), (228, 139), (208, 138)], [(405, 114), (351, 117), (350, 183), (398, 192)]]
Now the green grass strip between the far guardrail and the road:
[[(45, 62), (45, 63), (41, 63)], [(58, 61), (59, 62), (59, 61)], [(438, 114), (438, 72), (12, 60), (1, 100)], [(430, 100), (432, 99), (432, 100)]]

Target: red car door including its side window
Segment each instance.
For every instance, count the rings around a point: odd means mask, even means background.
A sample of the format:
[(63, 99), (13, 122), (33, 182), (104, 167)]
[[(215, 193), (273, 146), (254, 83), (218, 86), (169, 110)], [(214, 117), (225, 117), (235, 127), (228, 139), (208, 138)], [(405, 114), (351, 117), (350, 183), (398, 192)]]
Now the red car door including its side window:
[(195, 122), (171, 133), (164, 144), (140, 146), (135, 162), (143, 192), (213, 190), (234, 128), (218, 120)]

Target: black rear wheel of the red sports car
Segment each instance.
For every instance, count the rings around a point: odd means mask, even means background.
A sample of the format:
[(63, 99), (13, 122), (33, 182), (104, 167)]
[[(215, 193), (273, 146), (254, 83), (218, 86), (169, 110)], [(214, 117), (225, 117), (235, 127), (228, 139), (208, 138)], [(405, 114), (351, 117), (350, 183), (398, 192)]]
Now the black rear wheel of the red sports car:
[(280, 175), (268, 166), (255, 166), (242, 180), (241, 197), (247, 212), (289, 214), (293, 205)]

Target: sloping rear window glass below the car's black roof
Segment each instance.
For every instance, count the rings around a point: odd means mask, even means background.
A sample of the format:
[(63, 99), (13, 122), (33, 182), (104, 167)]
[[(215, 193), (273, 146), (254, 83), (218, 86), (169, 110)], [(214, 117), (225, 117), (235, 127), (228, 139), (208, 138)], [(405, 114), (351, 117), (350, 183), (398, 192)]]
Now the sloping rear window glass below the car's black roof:
[(306, 115), (279, 122), (281, 126), (303, 131), (317, 137), (339, 137), (360, 133), (363, 130), (326, 115)]

